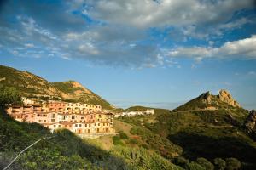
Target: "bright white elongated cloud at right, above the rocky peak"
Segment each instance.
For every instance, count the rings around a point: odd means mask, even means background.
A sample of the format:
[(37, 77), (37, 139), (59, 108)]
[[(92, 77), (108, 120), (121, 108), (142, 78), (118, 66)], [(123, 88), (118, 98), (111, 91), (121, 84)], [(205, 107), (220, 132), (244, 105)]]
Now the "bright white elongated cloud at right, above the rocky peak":
[(245, 39), (225, 42), (219, 48), (210, 47), (179, 47), (166, 52), (170, 57), (193, 58), (196, 60), (207, 58), (240, 58), (256, 59), (256, 35)]

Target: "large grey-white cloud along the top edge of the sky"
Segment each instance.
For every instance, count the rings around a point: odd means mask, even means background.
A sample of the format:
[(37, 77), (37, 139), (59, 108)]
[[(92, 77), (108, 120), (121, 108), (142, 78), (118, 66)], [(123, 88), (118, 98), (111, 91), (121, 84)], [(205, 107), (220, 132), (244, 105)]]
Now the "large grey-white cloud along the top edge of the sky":
[(212, 24), (230, 20), (243, 8), (252, 8), (253, 0), (99, 0), (89, 1), (93, 10), (87, 11), (97, 20), (140, 28), (152, 26), (185, 26)]

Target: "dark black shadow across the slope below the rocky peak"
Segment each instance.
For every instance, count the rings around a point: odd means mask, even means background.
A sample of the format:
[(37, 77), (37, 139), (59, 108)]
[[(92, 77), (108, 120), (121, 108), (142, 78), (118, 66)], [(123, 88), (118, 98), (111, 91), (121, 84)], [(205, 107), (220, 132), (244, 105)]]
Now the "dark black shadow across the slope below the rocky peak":
[(240, 161), (255, 164), (256, 149), (234, 137), (214, 139), (195, 133), (175, 133), (168, 136), (173, 143), (183, 147), (183, 156), (195, 160), (205, 157), (213, 160), (216, 157), (236, 157)]

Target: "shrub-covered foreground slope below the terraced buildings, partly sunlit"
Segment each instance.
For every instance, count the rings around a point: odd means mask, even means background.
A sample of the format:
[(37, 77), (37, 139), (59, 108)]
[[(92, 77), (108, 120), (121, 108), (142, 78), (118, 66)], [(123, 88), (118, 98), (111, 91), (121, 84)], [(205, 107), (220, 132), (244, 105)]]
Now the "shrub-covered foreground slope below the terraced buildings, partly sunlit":
[(182, 169), (154, 152), (114, 146), (102, 150), (68, 130), (50, 133), (37, 123), (16, 122), (0, 108), (0, 169), (20, 150), (43, 137), (26, 150), (9, 169)]

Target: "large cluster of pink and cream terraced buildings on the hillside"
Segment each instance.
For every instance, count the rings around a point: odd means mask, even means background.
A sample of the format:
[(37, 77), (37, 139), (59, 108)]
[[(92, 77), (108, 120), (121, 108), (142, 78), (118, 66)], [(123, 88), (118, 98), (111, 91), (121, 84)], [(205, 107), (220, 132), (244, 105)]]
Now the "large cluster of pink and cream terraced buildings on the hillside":
[(10, 105), (7, 112), (19, 122), (37, 122), (52, 132), (67, 128), (84, 138), (114, 134), (113, 114), (100, 105), (51, 102), (49, 104)]

